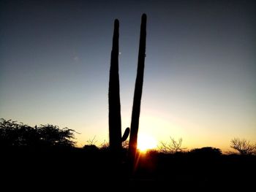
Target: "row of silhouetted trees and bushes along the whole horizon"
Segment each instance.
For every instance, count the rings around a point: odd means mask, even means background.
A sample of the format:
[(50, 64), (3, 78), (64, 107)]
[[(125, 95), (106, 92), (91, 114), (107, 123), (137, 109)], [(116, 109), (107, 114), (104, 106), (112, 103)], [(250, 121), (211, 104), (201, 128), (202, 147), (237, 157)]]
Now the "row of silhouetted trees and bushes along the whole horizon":
[[(59, 126), (53, 126), (50, 124), (40, 126), (28, 126), (23, 123), (17, 123), (14, 120), (0, 119), (0, 149), (10, 148), (29, 148), (34, 150), (45, 148), (76, 148), (75, 142), (75, 130), (70, 128), (59, 128)], [(108, 151), (109, 143), (104, 142), (100, 146), (96, 146), (95, 137), (87, 141), (88, 144), (83, 146), (83, 151), (87, 152), (99, 152)], [(123, 152), (127, 152), (129, 142), (122, 142)], [(240, 155), (255, 155), (256, 144), (249, 142), (246, 139), (234, 138), (230, 141), (230, 147), (236, 152), (230, 152), (229, 154), (238, 153)], [(222, 150), (215, 147), (202, 147), (187, 150), (186, 147), (182, 147), (182, 139), (175, 140), (170, 137), (167, 142), (160, 142), (157, 149), (149, 151), (150, 153), (192, 153), (192, 154), (205, 154), (205, 155), (222, 155)]]

